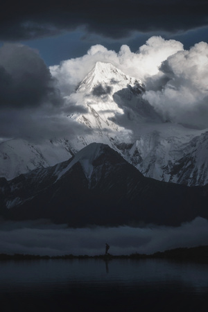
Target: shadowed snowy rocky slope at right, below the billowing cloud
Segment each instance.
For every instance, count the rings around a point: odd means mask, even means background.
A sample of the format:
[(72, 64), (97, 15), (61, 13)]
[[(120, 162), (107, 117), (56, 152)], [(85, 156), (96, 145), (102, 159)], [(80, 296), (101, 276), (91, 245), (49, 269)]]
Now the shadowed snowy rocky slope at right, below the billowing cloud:
[(189, 186), (208, 183), (206, 130), (171, 123), (144, 128), (125, 158), (146, 177)]

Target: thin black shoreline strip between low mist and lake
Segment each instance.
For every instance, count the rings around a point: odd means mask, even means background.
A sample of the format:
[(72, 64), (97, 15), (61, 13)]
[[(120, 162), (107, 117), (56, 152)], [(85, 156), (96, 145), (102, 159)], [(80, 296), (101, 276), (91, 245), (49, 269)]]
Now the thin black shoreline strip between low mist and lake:
[(130, 255), (112, 255), (100, 254), (96, 256), (65, 254), (63, 256), (40, 256), (35, 254), (0, 254), (0, 261), (7, 260), (49, 260), (49, 259), (103, 259), (109, 261), (112, 259), (170, 259), (175, 261), (194, 261), (208, 263), (208, 245), (193, 248), (175, 248), (164, 252), (155, 252), (154, 254), (130, 254)]

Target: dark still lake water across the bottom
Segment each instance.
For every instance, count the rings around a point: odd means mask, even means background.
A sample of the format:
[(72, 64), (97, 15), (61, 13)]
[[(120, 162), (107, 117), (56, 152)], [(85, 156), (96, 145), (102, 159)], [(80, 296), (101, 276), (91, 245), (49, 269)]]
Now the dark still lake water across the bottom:
[(208, 311), (208, 265), (102, 259), (0, 262), (0, 306), (16, 311)]

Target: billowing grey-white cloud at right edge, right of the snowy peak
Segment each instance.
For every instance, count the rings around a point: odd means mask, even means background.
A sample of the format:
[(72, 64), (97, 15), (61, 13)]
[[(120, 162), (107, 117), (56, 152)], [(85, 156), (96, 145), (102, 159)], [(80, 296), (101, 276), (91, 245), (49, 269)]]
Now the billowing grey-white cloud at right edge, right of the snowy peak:
[[(158, 86), (158, 89), (151, 90)], [(208, 44), (200, 42), (189, 51), (178, 51), (149, 80), (144, 98), (164, 120), (208, 127)]]

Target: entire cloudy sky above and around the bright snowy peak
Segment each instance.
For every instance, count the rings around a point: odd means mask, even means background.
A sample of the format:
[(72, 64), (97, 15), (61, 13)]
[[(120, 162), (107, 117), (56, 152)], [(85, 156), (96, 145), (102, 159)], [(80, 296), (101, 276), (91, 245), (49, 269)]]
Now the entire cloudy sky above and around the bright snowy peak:
[[(0, 138), (85, 131), (66, 103), (97, 60), (146, 85), (164, 120), (208, 127), (206, 3), (6, 1), (0, 19)], [(69, 107), (70, 106), (70, 107)]]

